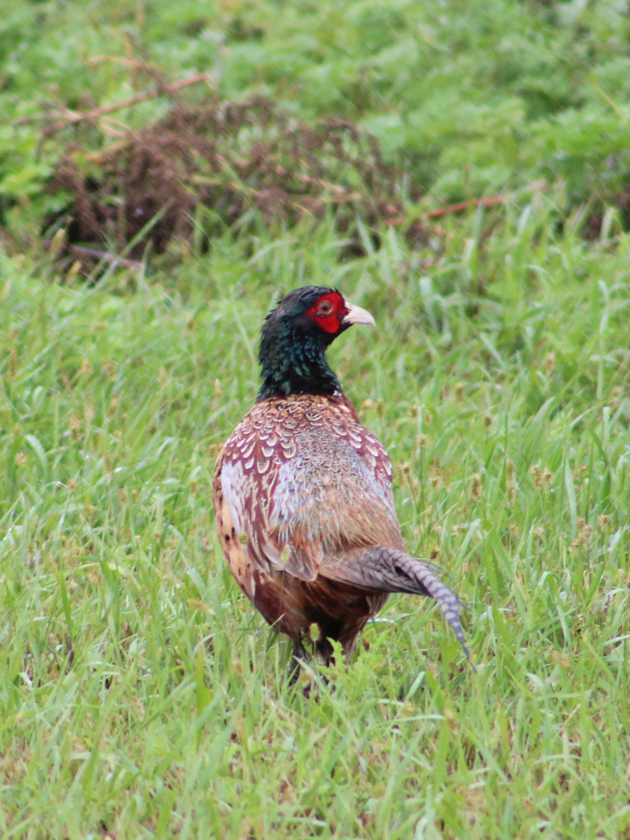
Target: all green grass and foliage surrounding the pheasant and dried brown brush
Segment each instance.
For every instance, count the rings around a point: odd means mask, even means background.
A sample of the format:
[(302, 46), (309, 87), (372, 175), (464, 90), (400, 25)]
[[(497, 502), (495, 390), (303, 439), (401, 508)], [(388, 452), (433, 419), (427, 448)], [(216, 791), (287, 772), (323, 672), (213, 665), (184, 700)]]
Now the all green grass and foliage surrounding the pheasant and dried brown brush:
[[(630, 236), (611, 209), (587, 242), (572, 209), (630, 171), (622, 5), (5, 5), (0, 837), (630, 838)], [(29, 119), (133, 95), (129, 64), (88, 59), (140, 42), (173, 77), (219, 68), (223, 96), (358, 119), (426, 206), (549, 190), (415, 250), (363, 230), (344, 260), (324, 219), (82, 281), (40, 247), (61, 144), (37, 155)], [(307, 700), (224, 564), (214, 459), (265, 313), (307, 283), (375, 315), (331, 361), (410, 550), (470, 606), (476, 671), (433, 603), (396, 596), (349, 669), (312, 663)]]

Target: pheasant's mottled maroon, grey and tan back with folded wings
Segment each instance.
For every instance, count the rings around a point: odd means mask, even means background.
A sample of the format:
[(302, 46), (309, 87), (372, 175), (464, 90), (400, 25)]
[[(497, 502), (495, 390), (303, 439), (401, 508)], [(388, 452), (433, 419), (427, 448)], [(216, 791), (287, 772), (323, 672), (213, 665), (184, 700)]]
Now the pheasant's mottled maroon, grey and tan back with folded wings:
[(216, 483), (261, 570), (314, 580), (344, 548), (402, 548), (391, 463), (345, 398), (257, 404), (225, 444)]

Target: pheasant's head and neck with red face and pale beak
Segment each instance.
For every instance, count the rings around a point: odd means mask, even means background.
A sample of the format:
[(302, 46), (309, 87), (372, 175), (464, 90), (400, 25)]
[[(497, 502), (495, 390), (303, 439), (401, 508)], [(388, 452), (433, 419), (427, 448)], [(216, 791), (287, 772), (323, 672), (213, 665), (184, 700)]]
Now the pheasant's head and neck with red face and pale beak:
[(353, 306), (328, 286), (291, 291), (263, 324), (259, 401), (270, 396), (339, 391), (339, 380), (326, 361), (326, 349), (353, 323), (375, 322), (370, 312)]

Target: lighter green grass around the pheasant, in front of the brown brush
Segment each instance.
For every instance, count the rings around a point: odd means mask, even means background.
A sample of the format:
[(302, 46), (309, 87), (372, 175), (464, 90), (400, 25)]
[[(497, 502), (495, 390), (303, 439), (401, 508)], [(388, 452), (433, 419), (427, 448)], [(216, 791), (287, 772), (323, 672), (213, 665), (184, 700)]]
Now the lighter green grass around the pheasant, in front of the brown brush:
[[(226, 235), (94, 286), (2, 258), (3, 838), (630, 836), (630, 239), (555, 213), (349, 263), (326, 224)], [(476, 673), (396, 596), (293, 695), (223, 562), (213, 459), (261, 319), (323, 281), (375, 314), (333, 365), (410, 549), (470, 605)]]

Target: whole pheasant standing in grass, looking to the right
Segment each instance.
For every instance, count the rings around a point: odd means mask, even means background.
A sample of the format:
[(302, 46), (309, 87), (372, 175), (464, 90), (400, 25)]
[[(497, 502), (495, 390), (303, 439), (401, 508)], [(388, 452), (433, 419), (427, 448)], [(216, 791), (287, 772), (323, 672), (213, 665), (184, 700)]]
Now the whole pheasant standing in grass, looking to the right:
[(213, 501), (223, 553), (241, 591), (293, 640), (346, 657), (390, 592), (433, 596), (465, 645), (461, 604), (433, 566), (405, 551), (391, 492), (391, 461), (361, 425), (325, 351), (352, 324), (374, 318), (327, 286), (291, 291), (262, 327), (262, 387), (218, 454)]

